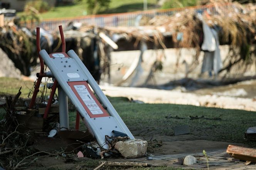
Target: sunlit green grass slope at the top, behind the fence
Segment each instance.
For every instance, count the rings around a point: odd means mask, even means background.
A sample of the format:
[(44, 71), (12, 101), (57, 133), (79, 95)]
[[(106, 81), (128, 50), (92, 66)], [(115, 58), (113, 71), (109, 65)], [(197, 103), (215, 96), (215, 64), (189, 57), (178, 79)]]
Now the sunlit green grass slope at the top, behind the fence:
[[(148, 0), (148, 9), (156, 8), (157, 0)], [(86, 3), (69, 4), (65, 6), (54, 7), (49, 12), (41, 13), (42, 19), (49, 18), (65, 18), (65, 17), (78, 17), (87, 14)], [(143, 10), (143, 0), (111, 0), (109, 8), (103, 13), (122, 13), (134, 12)], [(23, 15), (23, 12), (18, 12), (17, 15)]]

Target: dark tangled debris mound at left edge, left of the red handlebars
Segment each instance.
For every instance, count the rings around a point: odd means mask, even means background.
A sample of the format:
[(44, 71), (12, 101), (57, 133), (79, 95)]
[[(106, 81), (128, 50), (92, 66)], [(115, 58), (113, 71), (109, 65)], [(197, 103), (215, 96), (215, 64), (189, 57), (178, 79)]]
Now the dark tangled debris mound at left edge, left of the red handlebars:
[(0, 27), (0, 48), (23, 75), (30, 75), (30, 67), (37, 64), (35, 36), (27, 28), (13, 22)]

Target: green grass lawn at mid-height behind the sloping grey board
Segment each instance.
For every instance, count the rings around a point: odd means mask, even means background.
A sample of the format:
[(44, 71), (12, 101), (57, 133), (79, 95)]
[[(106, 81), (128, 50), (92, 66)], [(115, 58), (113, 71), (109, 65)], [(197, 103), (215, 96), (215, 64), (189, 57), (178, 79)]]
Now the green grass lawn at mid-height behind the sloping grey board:
[[(0, 78), (0, 94), (15, 95), (22, 86), (22, 97), (26, 98), (32, 82), (14, 78)], [(256, 112), (221, 108), (206, 108), (192, 105), (174, 104), (138, 104), (125, 97), (109, 97), (110, 102), (120, 114), (131, 133), (135, 136), (152, 137), (154, 135), (174, 135), (173, 127), (189, 125), (191, 135), (207, 136), (211, 140), (244, 143), (256, 147), (255, 142), (244, 139), (248, 127), (256, 126)], [(0, 114), (4, 113), (3, 108)], [(183, 119), (170, 118), (170, 116)], [(221, 120), (194, 119), (189, 116), (205, 118), (220, 117)], [(69, 112), (70, 127), (74, 128), (76, 112)], [(85, 126), (81, 122), (81, 130)]]

